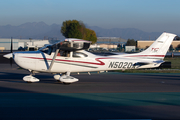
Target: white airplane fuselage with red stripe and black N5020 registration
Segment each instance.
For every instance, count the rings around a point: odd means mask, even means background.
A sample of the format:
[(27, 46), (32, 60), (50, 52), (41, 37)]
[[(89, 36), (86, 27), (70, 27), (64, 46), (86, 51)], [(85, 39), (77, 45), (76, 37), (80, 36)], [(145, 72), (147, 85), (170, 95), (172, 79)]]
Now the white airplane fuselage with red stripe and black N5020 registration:
[[(71, 56), (57, 55), (52, 66), (48, 71), (55, 52), (50, 55), (42, 51), (33, 52), (15, 52), (14, 61), (20, 67), (30, 71), (37, 72), (90, 72), (90, 71), (105, 71), (105, 70), (125, 70), (137, 68), (157, 67), (157, 64), (147, 64), (144, 66), (135, 66), (137, 62), (150, 62), (150, 59), (137, 59), (120, 56), (97, 56), (85, 50), (73, 52)], [(74, 55), (75, 54), (75, 55)]]

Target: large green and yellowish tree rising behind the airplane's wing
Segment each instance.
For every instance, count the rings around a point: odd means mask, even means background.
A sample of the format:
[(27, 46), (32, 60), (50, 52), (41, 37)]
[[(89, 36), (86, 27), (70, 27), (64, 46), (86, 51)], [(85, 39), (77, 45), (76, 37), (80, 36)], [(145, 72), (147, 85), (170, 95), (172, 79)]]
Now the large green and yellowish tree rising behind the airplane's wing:
[(61, 33), (66, 38), (78, 38), (96, 43), (97, 36), (95, 31), (87, 29), (83, 22), (77, 20), (64, 21), (61, 27)]

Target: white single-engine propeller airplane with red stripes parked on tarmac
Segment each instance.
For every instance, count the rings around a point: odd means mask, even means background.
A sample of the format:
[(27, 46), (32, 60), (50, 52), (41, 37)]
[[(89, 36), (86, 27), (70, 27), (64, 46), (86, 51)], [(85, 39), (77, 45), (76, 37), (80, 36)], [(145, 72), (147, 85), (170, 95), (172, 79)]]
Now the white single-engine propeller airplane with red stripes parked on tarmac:
[(14, 52), (4, 57), (13, 57), (17, 65), (31, 72), (23, 78), (26, 82), (38, 82), (39, 79), (33, 75), (46, 72), (55, 74), (56, 80), (69, 84), (78, 81), (77, 78), (70, 76), (72, 72), (158, 67), (164, 62), (163, 59), (175, 36), (164, 32), (148, 49), (134, 54), (94, 55), (86, 51), (91, 44), (90, 41), (68, 38), (63, 42), (47, 45), (38, 51)]

